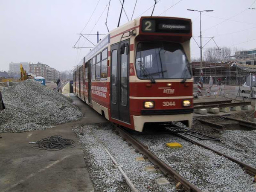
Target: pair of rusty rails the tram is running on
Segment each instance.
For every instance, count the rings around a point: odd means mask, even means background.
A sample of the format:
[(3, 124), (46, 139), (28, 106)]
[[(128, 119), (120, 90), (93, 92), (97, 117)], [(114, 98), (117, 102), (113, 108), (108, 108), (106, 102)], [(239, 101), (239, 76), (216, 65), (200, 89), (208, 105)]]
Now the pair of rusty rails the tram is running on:
[[(126, 140), (128, 143), (130, 143), (135, 149), (137, 149), (138, 151), (140, 151), (141, 154), (145, 155), (146, 158), (148, 158), (152, 163), (154, 163), (155, 166), (157, 166), (157, 168), (159, 168), (163, 173), (168, 174), (170, 177), (172, 177), (172, 179), (175, 181), (176, 186), (181, 187), (184, 191), (186, 192), (201, 192), (201, 189), (199, 189), (198, 187), (194, 186), (192, 183), (190, 183), (188, 180), (186, 180), (184, 177), (182, 177), (181, 175), (179, 175), (174, 169), (172, 169), (170, 166), (168, 166), (166, 163), (164, 163), (162, 160), (160, 160), (160, 158), (158, 158), (155, 154), (153, 154), (151, 151), (148, 150), (148, 147), (143, 145), (143, 143), (140, 143), (138, 140), (136, 140), (128, 131), (126, 131), (124, 128), (120, 127), (120, 126), (115, 126), (116, 131), (118, 131), (118, 134), (120, 134), (120, 136), (122, 138), (124, 138), (124, 140)], [(181, 128), (182, 129), (182, 128)], [(169, 133), (168, 133), (169, 132)], [(177, 127), (174, 130), (171, 130), (170, 127), (166, 127), (164, 134), (174, 134), (177, 137), (182, 138), (183, 140), (186, 140), (190, 143), (193, 143), (195, 145), (201, 146), (207, 150), (210, 150), (212, 152), (214, 152), (215, 154), (218, 154), (220, 156), (226, 157), (227, 159), (233, 161), (234, 163), (239, 164), (239, 166), (241, 166), (242, 168), (244, 168), (244, 170), (252, 176), (256, 175), (256, 168), (254, 168), (253, 166), (250, 166), (247, 163), (244, 163), (240, 160), (237, 160), (227, 154), (224, 154), (220, 151), (217, 151), (213, 148), (210, 148), (207, 145), (204, 145), (202, 143), (199, 143), (189, 137), (184, 136), (182, 133), (180, 133), (179, 131), (177, 131)], [(205, 137), (208, 137), (207, 135), (204, 135)], [(198, 138), (198, 137), (197, 137)], [(215, 140), (215, 138), (210, 138), (207, 140)]]

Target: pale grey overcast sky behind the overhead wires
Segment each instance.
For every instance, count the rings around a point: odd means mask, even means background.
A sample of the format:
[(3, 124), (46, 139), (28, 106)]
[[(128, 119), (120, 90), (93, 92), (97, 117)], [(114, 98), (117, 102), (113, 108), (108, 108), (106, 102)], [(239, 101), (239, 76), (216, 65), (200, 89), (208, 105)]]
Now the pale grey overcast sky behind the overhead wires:
[[(60, 71), (71, 70), (88, 52), (88, 49), (72, 47), (79, 38), (76, 33), (84, 28), (98, 1), (83, 33), (107, 33), (105, 20), (109, 0), (0, 0), (0, 70), (9, 70), (10, 62), (38, 61)], [(124, 8), (129, 19), (135, 2), (125, 0)], [(133, 18), (153, 4), (154, 0), (137, 0)], [(202, 15), (202, 35), (215, 36), (219, 47), (253, 49), (256, 48), (256, 9), (248, 9), (250, 6), (256, 8), (256, 0), (160, 0), (153, 15), (164, 12), (161, 16), (190, 18), (193, 35), (199, 36), (199, 13), (186, 9), (213, 9), (214, 12)], [(108, 16), (110, 30), (117, 26), (120, 9), (119, 0), (111, 0)], [(143, 16), (151, 15), (151, 11), (152, 8)], [(123, 12), (121, 25), (127, 21)], [(96, 36), (90, 35), (89, 39), (96, 43)], [(207, 41), (209, 39), (203, 42)], [(82, 38), (77, 45), (91, 47)], [(206, 47), (213, 46), (211, 42)], [(194, 40), (191, 40), (191, 53), (192, 57), (200, 56)]]

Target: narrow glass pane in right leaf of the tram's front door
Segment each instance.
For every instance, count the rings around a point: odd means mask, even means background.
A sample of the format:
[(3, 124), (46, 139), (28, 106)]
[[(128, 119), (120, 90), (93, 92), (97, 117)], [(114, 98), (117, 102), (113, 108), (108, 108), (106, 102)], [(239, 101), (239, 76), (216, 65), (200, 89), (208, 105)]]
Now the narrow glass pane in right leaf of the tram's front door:
[(121, 105), (127, 105), (127, 94), (128, 94), (128, 82), (127, 82), (127, 67), (128, 67), (128, 55), (126, 54), (127, 46), (125, 47), (125, 52), (121, 56)]

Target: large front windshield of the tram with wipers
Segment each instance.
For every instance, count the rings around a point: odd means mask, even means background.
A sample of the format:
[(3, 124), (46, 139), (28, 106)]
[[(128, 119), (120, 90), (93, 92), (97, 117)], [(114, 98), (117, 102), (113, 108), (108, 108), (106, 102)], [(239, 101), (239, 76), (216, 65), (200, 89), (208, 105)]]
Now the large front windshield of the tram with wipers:
[(183, 47), (165, 41), (137, 45), (136, 71), (139, 79), (191, 79)]

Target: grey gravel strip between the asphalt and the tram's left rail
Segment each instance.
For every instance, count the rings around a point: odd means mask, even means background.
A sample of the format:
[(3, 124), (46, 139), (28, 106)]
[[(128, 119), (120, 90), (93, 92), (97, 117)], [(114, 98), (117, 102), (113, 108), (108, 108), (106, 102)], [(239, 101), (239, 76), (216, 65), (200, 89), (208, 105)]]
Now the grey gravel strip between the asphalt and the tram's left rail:
[[(93, 134), (96, 135), (99, 140), (108, 148), (108, 151), (114, 157), (119, 165), (122, 165), (122, 169), (129, 177), (131, 182), (140, 192), (175, 192), (174, 184), (170, 184), (168, 186), (158, 186), (155, 182), (157, 177), (165, 177), (160, 173), (149, 173), (145, 171), (146, 166), (154, 166), (151, 162), (148, 161), (136, 161), (136, 157), (143, 156), (140, 153), (135, 153), (134, 148), (129, 146), (127, 142), (123, 141), (119, 135), (116, 135), (113, 131), (111, 131), (112, 126), (109, 123), (105, 124), (94, 124), (94, 125), (85, 125), (84, 126), (84, 136), (79, 136), (80, 141), (84, 144), (84, 153), (85, 153), (85, 160), (89, 164), (90, 167), (90, 175), (93, 177), (93, 185), (97, 186), (97, 191), (99, 186), (105, 186), (106, 189), (109, 189), (107, 183), (102, 183), (103, 181), (97, 178), (99, 172), (95, 172), (94, 170), (97, 169), (99, 166), (102, 172), (100, 175), (107, 175), (108, 177), (112, 178), (112, 173), (110, 173), (111, 169), (106, 169), (108, 167), (105, 165), (105, 160), (109, 159), (109, 157), (105, 156), (106, 152), (101, 151), (101, 147), (99, 144), (93, 142), (93, 136), (91, 134), (90, 129), (93, 131)], [(78, 132), (78, 130), (77, 130)], [(100, 156), (100, 157), (98, 157)], [(104, 160), (102, 161), (102, 157)], [(89, 162), (88, 162), (89, 161)], [(113, 167), (113, 163), (109, 162)], [(113, 168), (112, 168), (113, 169)], [(104, 170), (104, 172), (103, 172)], [(117, 170), (117, 169), (116, 169)], [(118, 170), (117, 170), (118, 172)], [(117, 174), (115, 172), (115, 174)], [(123, 177), (120, 177), (122, 180)], [(166, 177), (169, 179), (168, 177)], [(172, 180), (170, 180), (172, 181)], [(149, 188), (150, 189), (149, 189)], [(109, 190), (107, 190), (109, 191)], [(121, 192), (119, 188), (116, 188), (116, 192)]]

